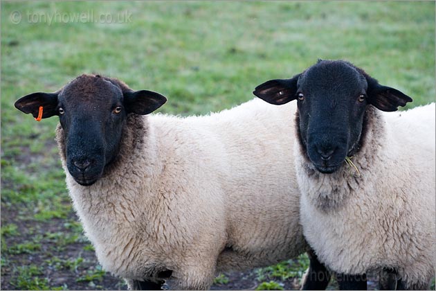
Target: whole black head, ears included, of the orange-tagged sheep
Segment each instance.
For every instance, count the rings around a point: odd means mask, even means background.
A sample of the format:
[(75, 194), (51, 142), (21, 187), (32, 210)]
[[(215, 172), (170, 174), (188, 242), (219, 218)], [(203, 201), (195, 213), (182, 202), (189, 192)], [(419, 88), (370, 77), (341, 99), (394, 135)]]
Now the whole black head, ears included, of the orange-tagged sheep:
[(94, 184), (116, 159), (127, 114), (149, 114), (166, 98), (152, 91), (132, 91), (115, 79), (82, 75), (54, 94), (35, 93), (15, 106), (42, 118), (60, 117), (66, 167), (78, 184)]

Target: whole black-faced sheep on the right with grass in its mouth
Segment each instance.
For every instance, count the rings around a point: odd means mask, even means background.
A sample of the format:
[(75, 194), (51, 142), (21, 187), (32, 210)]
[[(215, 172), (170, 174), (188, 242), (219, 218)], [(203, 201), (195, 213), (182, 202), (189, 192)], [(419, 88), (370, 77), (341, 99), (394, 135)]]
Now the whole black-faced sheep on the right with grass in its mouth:
[(366, 289), (365, 273), (384, 270), (397, 276), (399, 289), (429, 288), (436, 261), (435, 103), (388, 113), (412, 98), (342, 60), (318, 60), (253, 93), (275, 105), (298, 99), (294, 155), (303, 233), (319, 261), (340, 274), (340, 287), (356, 279)]

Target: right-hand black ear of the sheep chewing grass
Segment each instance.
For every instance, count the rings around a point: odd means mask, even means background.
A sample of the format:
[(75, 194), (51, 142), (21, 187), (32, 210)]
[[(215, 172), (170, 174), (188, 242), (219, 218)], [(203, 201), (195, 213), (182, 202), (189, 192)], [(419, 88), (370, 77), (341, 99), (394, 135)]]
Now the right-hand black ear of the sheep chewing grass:
[(399, 106), (412, 102), (412, 98), (403, 92), (380, 85), (375, 79), (368, 80), (367, 96), (368, 103), (386, 112), (397, 111)]

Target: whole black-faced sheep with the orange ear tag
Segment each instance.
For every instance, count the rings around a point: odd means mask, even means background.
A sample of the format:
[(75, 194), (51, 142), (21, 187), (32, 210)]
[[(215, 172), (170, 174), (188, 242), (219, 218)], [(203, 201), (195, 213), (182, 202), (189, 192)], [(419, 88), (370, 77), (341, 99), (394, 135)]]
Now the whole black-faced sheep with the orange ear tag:
[[(66, 185), (102, 267), (133, 289), (161, 289), (167, 280), (197, 290), (216, 272), (307, 251), (286, 153), (293, 105), (265, 108), (254, 99), (209, 116), (147, 115), (165, 101), (84, 74), (15, 103), (39, 120), (59, 116)], [(319, 265), (311, 267), (323, 271)]]

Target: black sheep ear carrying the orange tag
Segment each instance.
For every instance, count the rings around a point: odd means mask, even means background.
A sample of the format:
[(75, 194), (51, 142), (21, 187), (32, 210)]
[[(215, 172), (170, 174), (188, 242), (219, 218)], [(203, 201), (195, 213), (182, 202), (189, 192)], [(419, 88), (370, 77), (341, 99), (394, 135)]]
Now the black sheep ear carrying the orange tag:
[(26, 114), (31, 113), (37, 118), (39, 107), (42, 107), (42, 118), (59, 115), (57, 111), (57, 93), (37, 92), (19, 98), (15, 107)]

